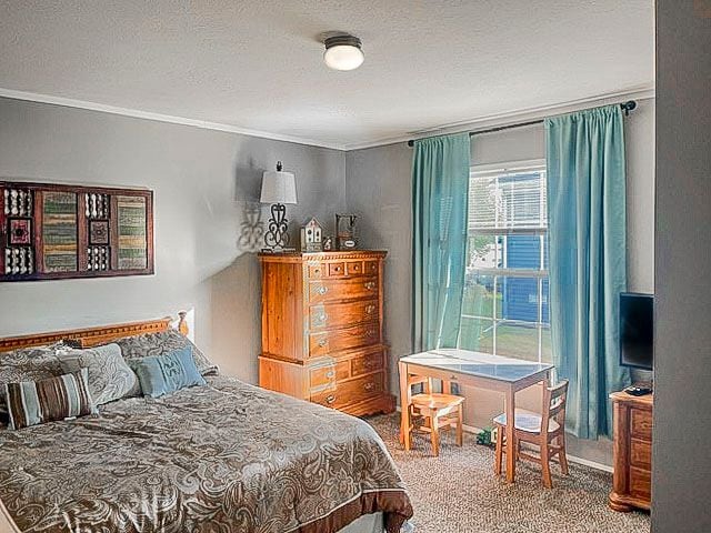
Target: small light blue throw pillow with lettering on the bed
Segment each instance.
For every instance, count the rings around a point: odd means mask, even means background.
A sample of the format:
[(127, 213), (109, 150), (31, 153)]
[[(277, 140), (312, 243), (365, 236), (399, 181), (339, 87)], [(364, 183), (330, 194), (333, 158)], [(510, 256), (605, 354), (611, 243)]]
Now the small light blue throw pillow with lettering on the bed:
[(193, 385), (204, 385), (190, 346), (164, 355), (137, 359), (130, 362), (141, 382), (143, 395), (158, 398)]

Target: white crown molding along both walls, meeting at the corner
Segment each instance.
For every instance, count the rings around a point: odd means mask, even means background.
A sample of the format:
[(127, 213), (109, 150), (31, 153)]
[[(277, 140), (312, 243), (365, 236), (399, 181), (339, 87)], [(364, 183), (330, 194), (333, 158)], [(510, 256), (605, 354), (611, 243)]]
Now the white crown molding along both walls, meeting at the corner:
[(585, 109), (595, 105), (605, 105), (610, 103), (618, 103), (624, 100), (648, 100), (655, 98), (654, 88), (641, 88), (629, 91), (612, 92), (608, 94), (600, 94), (595, 97), (572, 100), (569, 102), (555, 103), (550, 105), (542, 105), (538, 108), (527, 108), (507, 111), (503, 113), (489, 114), (475, 119), (468, 119), (463, 121), (452, 122), (434, 128), (428, 128), (423, 130), (417, 130), (408, 132), (403, 135), (388, 137), (378, 139), (375, 141), (357, 142), (350, 144), (341, 144), (334, 142), (322, 142), (314, 139), (282, 135), (279, 133), (270, 133), (261, 130), (250, 130), (247, 128), (239, 128), (232, 124), (224, 124), (221, 122), (210, 122), (206, 120), (189, 119), (186, 117), (176, 117), (171, 114), (153, 113), (150, 111), (141, 111), (139, 109), (120, 108), (116, 105), (107, 105), (103, 103), (88, 102), (84, 100), (74, 100), (71, 98), (53, 97), (51, 94), (41, 94), (37, 92), (16, 91), (12, 89), (0, 88), (0, 98), (9, 98), (13, 100), (24, 100), (30, 102), (49, 103), (53, 105), (62, 105), (66, 108), (86, 109), (89, 111), (99, 111), (102, 113), (119, 114), (122, 117), (132, 117), (136, 119), (152, 120), (158, 122), (168, 122), (171, 124), (189, 125), (192, 128), (202, 128), (206, 130), (224, 131), (228, 133), (238, 133), (242, 135), (257, 137), (260, 139), (269, 139), (273, 141), (293, 142), (297, 144), (306, 144), (310, 147), (327, 148), (330, 150), (339, 151), (353, 151), (362, 150), (365, 148), (382, 147), (385, 144), (395, 144), (398, 142), (409, 141), (411, 139), (422, 139), (434, 134), (441, 135), (447, 133), (458, 133), (462, 131), (469, 131), (472, 129), (507, 125), (510, 123), (522, 122), (527, 120), (537, 120), (552, 114), (562, 114), (580, 109)]

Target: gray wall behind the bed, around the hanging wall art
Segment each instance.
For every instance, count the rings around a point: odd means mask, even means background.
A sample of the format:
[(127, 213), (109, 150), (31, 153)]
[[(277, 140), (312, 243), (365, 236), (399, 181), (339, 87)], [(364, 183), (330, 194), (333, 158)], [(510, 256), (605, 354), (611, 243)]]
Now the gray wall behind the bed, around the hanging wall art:
[(152, 189), (157, 247), (153, 276), (0, 283), (0, 336), (194, 309), (197, 343), (257, 382), (261, 276), (237, 241), (278, 159), (297, 175), (291, 220), (344, 210), (339, 151), (0, 99), (0, 178)]

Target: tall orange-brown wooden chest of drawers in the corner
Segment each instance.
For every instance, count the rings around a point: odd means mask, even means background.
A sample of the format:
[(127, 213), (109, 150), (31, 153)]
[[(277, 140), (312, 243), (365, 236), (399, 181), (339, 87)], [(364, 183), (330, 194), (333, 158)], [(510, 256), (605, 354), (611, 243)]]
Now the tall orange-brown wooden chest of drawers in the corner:
[(262, 253), (259, 384), (357, 416), (394, 411), (384, 251)]

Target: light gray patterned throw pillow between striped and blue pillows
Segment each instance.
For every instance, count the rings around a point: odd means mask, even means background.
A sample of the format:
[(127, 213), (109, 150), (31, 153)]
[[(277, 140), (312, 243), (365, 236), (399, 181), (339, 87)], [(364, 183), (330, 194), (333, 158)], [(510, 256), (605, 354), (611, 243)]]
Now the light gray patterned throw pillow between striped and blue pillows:
[(68, 349), (60, 351), (58, 358), (63, 372), (87, 369), (89, 392), (96, 405), (140, 394), (138, 378), (126, 363), (118, 344), (88, 350)]

